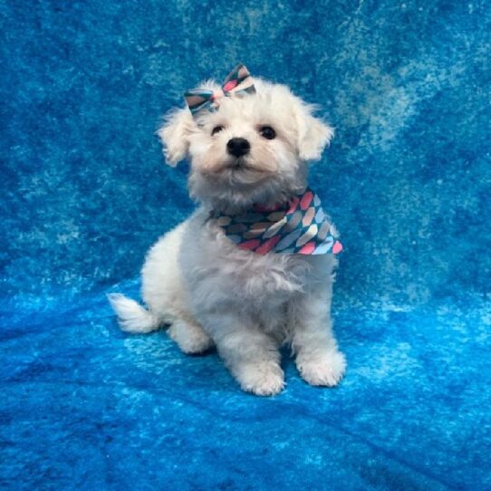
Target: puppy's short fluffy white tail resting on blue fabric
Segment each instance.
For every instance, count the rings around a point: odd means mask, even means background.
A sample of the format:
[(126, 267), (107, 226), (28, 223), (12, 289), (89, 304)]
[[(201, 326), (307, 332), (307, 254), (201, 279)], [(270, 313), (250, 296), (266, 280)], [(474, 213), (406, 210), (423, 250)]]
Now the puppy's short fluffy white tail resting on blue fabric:
[(121, 294), (107, 296), (114, 312), (118, 315), (118, 323), (123, 331), (142, 334), (156, 331), (162, 324), (157, 315), (149, 312), (140, 303)]

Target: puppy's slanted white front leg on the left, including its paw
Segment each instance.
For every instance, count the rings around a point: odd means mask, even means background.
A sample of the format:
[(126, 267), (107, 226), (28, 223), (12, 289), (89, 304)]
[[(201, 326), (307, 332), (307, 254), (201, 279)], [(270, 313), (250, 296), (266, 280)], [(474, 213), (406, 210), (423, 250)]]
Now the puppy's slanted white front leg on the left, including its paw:
[(230, 311), (207, 313), (200, 321), (243, 390), (259, 396), (277, 394), (284, 388), (277, 343), (252, 319)]

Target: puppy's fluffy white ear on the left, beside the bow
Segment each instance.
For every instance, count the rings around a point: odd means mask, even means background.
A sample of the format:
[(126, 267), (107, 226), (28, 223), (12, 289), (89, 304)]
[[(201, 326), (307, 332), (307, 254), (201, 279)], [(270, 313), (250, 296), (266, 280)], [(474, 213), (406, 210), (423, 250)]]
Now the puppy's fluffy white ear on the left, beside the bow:
[(178, 162), (186, 159), (189, 136), (193, 130), (196, 130), (196, 123), (188, 108), (168, 112), (157, 134), (164, 146), (164, 155), (169, 166), (175, 167)]

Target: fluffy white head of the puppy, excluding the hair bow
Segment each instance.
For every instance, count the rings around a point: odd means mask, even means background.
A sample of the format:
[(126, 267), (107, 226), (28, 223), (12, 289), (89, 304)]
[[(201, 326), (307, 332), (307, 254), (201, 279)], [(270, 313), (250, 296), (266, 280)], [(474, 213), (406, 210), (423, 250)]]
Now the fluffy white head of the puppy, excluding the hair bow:
[(211, 207), (284, 202), (303, 191), (307, 163), (321, 159), (332, 139), (332, 128), (313, 116), (314, 106), (288, 87), (254, 84), (255, 93), (222, 97), (216, 112), (171, 111), (158, 132), (169, 165), (189, 159), (191, 197)]

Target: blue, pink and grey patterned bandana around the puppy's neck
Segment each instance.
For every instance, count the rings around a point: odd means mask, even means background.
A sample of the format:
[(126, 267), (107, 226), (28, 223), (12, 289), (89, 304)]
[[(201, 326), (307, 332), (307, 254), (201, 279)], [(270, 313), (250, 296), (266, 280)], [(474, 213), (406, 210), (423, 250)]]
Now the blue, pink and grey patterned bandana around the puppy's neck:
[(214, 211), (225, 235), (241, 249), (265, 255), (338, 254), (342, 244), (321, 207), (321, 199), (307, 188), (287, 205), (265, 208), (255, 205), (241, 215), (225, 215)]

